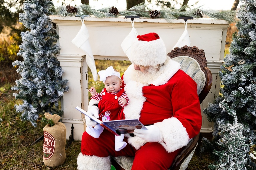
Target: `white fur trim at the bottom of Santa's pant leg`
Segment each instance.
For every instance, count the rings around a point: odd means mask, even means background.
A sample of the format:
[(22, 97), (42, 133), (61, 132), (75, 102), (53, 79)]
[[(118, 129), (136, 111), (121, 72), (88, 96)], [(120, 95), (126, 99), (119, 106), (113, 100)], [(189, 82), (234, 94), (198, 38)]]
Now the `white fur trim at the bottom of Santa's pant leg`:
[(98, 157), (95, 155), (83, 155), (79, 153), (77, 157), (77, 169), (78, 170), (110, 170), (111, 161), (110, 156)]

